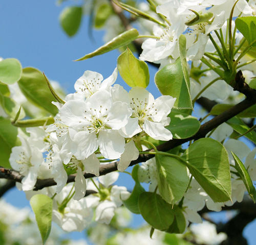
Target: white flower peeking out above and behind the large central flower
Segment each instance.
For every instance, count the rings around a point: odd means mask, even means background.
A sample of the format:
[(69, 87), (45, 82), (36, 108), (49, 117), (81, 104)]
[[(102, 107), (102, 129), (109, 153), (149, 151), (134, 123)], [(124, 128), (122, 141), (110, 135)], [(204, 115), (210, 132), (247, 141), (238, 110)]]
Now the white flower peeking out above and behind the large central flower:
[(117, 75), (118, 71), (117, 68), (115, 68), (113, 74), (102, 81), (103, 77), (101, 74), (95, 71), (86, 70), (82, 77), (76, 81), (75, 90), (78, 93), (83, 94), (84, 97), (89, 98), (99, 90), (109, 90), (111, 85), (116, 81)]

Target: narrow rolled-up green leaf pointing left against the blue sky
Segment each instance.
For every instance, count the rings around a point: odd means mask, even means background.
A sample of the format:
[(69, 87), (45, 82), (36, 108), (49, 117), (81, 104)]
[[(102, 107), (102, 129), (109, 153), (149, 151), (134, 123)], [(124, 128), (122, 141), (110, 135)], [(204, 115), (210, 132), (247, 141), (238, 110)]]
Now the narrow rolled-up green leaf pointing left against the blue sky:
[(83, 56), (80, 59), (77, 59), (75, 61), (80, 61), (80, 60), (86, 60), (89, 58), (92, 58), (97, 55), (102, 55), (104, 53), (110, 52), (112, 50), (115, 50), (116, 48), (119, 48), (123, 45), (127, 45), (131, 41), (135, 40), (139, 36), (139, 33), (136, 29), (132, 28), (128, 31), (125, 31), (121, 34), (119, 34), (117, 37), (113, 38), (109, 42), (105, 43), (103, 46), (99, 47), (97, 50), (94, 52), (87, 54)]

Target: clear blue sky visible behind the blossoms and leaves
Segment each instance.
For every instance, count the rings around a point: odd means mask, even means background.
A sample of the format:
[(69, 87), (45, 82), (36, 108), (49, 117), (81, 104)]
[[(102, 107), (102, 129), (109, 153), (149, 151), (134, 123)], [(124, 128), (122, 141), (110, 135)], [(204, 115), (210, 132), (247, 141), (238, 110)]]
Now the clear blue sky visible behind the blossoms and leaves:
[[(104, 78), (110, 76), (120, 55), (118, 51), (112, 51), (89, 60), (73, 61), (102, 45), (104, 31), (93, 31), (93, 42), (88, 36), (88, 18), (83, 17), (78, 34), (73, 38), (67, 37), (60, 28), (58, 16), (70, 4), (79, 4), (79, 1), (67, 1), (61, 6), (57, 6), (53, 0), (8, 0), (0, 4), (0, 57), (17, 58), (23, 67), (33, 66), (44, 71), (49, 79), (58, 81), (68, 93), (74, 92), (74, 83), (84, 70), (100, 72)], [(151, 68), (148, 89), (159, 96), (154, 85), (155, 72), (155, 68)], [(120, 76), (117, 83), (128, 89)], [(126, 176), (122, 175), (120, 184), (130, 182), (129, 176)], [(15, 189), (9, 191), (5, 199), (18, 207), (29, 205), (25, 194)], [(224, 214), (216, 217), (222, 219)], [(142, 218), (136, 215), (133, 226), (141, 223)], [(254, 244), (252, 234), (255, 226), (254, 222), (245, 229), (251, 245)], [(80, 238), (81, 235), (73, 233), (74, 237)]]

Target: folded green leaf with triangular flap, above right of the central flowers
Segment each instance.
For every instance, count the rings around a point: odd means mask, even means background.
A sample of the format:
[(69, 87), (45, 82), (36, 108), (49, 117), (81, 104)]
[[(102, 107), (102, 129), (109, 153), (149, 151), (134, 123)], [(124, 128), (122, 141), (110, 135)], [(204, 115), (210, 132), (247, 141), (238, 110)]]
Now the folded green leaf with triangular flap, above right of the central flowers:
[(155, 83), (163, 95), (176, 99), (174, 106), (180, 109), (193, 109), (189, 87), (184, 79), (180, 58), (158, 70)]

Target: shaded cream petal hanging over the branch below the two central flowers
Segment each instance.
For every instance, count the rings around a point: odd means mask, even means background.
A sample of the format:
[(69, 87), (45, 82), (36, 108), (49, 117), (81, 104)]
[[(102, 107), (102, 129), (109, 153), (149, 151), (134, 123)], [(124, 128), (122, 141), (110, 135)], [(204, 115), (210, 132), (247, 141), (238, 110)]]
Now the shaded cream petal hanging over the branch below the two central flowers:
[(121, 155), (120, 161), (117, 164), (117, 169), (119, 171), (124, 171), (131, 161), (136, 160), (139, 157), (139, 151), (133, 140), (126, 143), (124, 146), (124, 152)]

